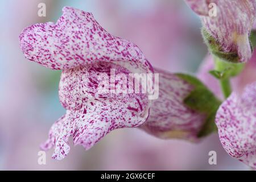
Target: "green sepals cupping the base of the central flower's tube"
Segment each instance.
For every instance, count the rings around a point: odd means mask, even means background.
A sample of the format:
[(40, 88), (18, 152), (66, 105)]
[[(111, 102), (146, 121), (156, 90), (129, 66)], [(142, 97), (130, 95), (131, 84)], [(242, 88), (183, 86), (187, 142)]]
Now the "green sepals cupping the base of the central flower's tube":
[(221, 101), (196, 77), (184, 73), (176, 73), (176, 75), (194, 86), (194, 89), (184, 98), (184, 104), (190, 109), (203, 113), (206, 116), (198, 137), (205, 137), (217, 131), (214, 118), (218, 107), (221, 105)]

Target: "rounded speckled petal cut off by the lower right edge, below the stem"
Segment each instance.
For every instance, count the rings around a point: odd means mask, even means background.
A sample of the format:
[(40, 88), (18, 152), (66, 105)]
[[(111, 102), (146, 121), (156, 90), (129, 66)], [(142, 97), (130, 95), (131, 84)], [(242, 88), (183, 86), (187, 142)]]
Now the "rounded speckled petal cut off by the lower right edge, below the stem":
[(226, 152), (256, 169), (256, 83), (223, 102), (216, 125)]

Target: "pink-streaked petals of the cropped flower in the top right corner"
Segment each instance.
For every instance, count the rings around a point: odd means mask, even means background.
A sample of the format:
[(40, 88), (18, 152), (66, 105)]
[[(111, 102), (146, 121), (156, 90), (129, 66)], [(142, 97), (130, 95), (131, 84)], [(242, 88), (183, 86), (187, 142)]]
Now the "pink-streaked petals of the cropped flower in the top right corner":
[[(203, 27), (213, 36), (226, 53), (237, 53), (240, 62), (251, 57), (249, 35), (256, 11), (255, 0), (186, 0), (196, 14), (200, 15)], [(209, 16), (208, 5), (215, 3), (217, 16)]]

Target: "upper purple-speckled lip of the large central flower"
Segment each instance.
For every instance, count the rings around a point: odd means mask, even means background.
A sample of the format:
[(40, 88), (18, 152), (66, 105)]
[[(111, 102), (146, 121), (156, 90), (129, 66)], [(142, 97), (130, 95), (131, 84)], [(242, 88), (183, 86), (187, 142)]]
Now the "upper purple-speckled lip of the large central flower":
[(63, 8), (56, 24), (25, 28), (19, 40), (27, 59), (51, 69), (75, 68), (96, 61), (125, 61), (127, 68), (141, 72), (152, 69), (135, 44), (109, 34), (92, 14), (72, 7)]

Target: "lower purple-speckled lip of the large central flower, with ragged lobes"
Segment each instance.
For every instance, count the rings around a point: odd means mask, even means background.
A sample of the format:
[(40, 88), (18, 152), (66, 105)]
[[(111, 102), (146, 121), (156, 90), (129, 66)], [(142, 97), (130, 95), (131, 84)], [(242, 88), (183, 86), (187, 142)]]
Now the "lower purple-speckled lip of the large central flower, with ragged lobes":
[(61, 74), (60, 102), (68, 113), (53, 124), (49, 139), (42, 146), (48, 150), (55, 144), (53, 159), (60, 160), (68, 154), (67, 142), (72, 135), (75, 144), (88, 150), (110, 131), (137, 127), (146, 121), (150, 106), (147, 94), (97, 93), (98, 73), (110, 73), (110, 69), (117, 74), (129, 73), (116, 64), (95, 63), (65, 69)]

